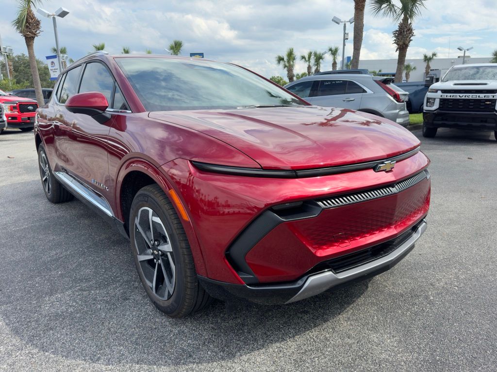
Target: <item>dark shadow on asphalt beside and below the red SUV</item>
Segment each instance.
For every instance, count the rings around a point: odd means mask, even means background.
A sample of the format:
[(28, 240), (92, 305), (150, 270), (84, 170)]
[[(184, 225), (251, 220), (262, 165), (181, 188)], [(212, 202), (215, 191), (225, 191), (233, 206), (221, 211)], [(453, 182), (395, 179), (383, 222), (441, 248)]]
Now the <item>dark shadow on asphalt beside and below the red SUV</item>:
[(5, 212), (15, 213), (0, 221), (9, 231), (0, 237), (9, 251), (2, 254), (0, 316), (24, 344), (51, 355), (104, 365), (231, 360), (333, 321), (368, 288), (360, 282), (284, 306), (228, 310), (214, 302), (171, 319), (148, 300), (129, 242), (115, 229), (79, 201), (49, 203), (38, 180), (13, 189), (0, 191)]

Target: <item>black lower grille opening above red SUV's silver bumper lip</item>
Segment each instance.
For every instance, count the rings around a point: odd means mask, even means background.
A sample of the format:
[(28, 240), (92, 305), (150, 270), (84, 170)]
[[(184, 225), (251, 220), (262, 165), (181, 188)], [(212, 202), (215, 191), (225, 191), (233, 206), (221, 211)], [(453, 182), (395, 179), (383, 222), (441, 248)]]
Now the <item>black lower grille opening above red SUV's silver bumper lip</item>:
[(417, 223), (414, 227), (412, 227), (402, 235), (398, 236), (395, 239), (389, 240), (388, 242), (321, 262), (317, 267), (313, 269), (313, 271), (331, 269), (333, 270), (333, 272), (339, 273), (386, 256), (387, 254), (393, 252), (395, 249), (399, 248), (399, 246), (401, 246), (403, 243), (405, 243), (417, 230), (419, 224), (420, 223)]

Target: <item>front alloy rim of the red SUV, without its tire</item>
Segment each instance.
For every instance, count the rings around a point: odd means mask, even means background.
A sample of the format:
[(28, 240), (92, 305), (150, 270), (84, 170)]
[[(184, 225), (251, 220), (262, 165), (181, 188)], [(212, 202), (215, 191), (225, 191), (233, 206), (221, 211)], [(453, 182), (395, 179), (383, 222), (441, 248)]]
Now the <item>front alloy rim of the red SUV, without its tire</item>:
[(135, 219), (135, 249), (139, 267), (153, 294), (168, 300), (176, 281), (171, 242), (164, 223), (149, 207), (142, 207)]

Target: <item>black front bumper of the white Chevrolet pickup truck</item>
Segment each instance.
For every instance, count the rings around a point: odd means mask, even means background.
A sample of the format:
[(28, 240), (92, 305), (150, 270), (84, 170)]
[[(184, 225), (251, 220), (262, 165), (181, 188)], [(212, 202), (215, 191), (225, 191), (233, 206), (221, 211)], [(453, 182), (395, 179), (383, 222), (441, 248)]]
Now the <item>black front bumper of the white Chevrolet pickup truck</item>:
[(424, 111), (423, 124), (430, 128), (497, 130), (497, 113)]

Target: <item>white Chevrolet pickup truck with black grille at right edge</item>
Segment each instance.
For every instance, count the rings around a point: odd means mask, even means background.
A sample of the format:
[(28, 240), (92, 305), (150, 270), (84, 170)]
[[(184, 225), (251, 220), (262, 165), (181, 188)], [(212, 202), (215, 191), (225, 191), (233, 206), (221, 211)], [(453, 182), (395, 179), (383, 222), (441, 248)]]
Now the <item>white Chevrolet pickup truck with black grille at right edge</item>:
[(451, 67), (432, 84), (423, 106), (423, 136), (438, 128), (494, 130), (497, 140), (497, 63)]

